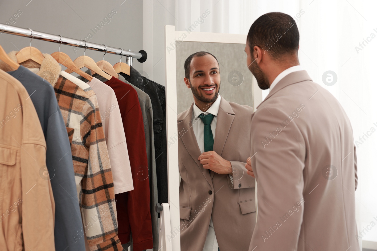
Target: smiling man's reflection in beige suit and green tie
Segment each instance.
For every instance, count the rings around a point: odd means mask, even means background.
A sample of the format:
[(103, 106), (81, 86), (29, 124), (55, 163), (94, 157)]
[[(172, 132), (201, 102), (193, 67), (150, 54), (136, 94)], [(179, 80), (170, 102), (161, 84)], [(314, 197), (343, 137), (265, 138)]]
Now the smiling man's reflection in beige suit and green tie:
[(245, 169), (253, 108), (218, 94), (219, 63), (208, 52), (186, 59), (184, 80), (194, 102), (178, 115), (181, 251), (247, 250), (256, 220)]

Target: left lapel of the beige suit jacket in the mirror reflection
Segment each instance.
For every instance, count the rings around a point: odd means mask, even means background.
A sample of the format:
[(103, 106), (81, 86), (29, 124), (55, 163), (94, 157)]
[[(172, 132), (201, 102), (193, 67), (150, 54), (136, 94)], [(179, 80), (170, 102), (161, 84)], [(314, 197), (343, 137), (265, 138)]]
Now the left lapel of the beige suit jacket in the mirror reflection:
[(198, 142), (196, 141), (196, 137), (194, 134), (194, 130), (191, 126), (193, 105), (194, 103), (192, 103), (191, 107), (184, 112), (184, 115), (182, 116), (184, 117), (184, 119), (178, 122), (178, 132), (179, 136), (182, 138), (183, 144), (185, 145), (187, 151), (189, 152), (193, 160), (195, 160), (196, 164), (198, 165), (198, 168), (201, 170), (205, 179), (208, 181), (213, 190), (213, 184), (208, 169), (203, 168), (203, 165), (200, 164), (198, 160), (199, 155), (201, 155), (202, 153), (199, 149)]

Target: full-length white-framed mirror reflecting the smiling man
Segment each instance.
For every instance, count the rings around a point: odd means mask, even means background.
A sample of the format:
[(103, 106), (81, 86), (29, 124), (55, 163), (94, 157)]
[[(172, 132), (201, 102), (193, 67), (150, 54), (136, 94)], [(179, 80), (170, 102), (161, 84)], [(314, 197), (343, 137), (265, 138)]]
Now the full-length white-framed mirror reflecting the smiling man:
[[(247, 250), (256, 223), (256, 184), (245, 164), (251, 114), (261, 92), (247, 67), (246, 37), (220, 42), (213, 34), (192, 32), (175, 41), (175, 81), (167, 81), (168, 110), (178, 131), (168, 141), (168, 156), (177, 153), (169, 161), (169, 169), (178, 169), (177, 180), (169, 175), (169, 186), (175, 186), (169, 190), (179, 203), (169, 196), (169, 204), (172, 233), (179, 208), (182, 251)], [(172, 68), (167, 71), (169, 79)], [(176, 110), (169, 89), (175, 89)]]

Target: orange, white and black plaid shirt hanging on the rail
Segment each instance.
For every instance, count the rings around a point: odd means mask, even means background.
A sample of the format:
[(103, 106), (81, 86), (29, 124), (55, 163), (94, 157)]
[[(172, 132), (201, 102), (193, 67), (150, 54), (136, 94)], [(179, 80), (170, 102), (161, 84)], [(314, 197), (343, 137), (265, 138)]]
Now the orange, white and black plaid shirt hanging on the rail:
[[(87, 84), (86, 84), (87, 85)], [(123, 250), (118, 238), (113, 176), (97, 97), (60, 75), (54, 86), (71, 140), (76, 186), (84, 229), (91, 251)]]

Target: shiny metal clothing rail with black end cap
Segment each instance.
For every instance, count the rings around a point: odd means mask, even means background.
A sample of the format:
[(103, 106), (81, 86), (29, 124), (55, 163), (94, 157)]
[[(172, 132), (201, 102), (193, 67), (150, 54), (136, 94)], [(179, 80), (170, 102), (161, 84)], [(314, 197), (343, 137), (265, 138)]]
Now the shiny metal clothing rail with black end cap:
[[(78, 40), (74, 38), (61, 37), (60, 35), (49, 34), (31, 29), (25, 29), (21, 27), (9, 26), (7, 24), (0, 23), (0, 32), (5, 32), (13, 35), (30, 37), (34, 39), (66, 44), (69, 46), (76, 46), (81, 48), (87, 48), (90, 50), (98, 50), (100, 52), (113, 53), (118, 55), (124, 55), (127, 57), (136, 58), (139, 62), (143, 63), (147, 60), (147, 52), (140, 50), (139, 52), (132, 52), (130, 50), (123, 50), (120, 48), (104, 46), (103, 44), (89, 43), (84, 40)], [(132, 60), (132, 59), (131, 59)]]

